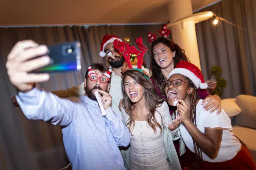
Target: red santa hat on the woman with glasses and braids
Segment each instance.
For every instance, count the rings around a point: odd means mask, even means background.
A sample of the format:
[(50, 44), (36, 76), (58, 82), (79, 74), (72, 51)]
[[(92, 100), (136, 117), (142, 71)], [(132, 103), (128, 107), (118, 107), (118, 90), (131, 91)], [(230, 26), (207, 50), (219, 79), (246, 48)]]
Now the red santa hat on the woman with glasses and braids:
[(175, 69), (169, 74), (168, 79), (173, 74), (181, 74), (183, 76), (188, 77), (196, 86), (196, 88), (207, 89), (207, 83), (204, 83), (204, 77), (202, 72), (192, 63), (188, 63), (186, 61), (180, 61)]

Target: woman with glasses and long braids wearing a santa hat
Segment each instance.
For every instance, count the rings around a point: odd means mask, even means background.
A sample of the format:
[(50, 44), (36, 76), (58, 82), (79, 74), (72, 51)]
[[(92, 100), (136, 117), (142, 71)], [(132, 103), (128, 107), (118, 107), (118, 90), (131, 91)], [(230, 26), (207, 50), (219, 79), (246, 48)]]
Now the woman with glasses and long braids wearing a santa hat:
[(180, 116), (182, 139), (195, 153), (198, 169), (255, 169), (252, 154), (232, 133), (225, 111), (222, 109), (219, 115), (205, 114), (208, 111), (198, 96), (199, 87), (205, 87), (201, 71), (185, 61), (177, 64), (165, 84), (168, 103), (175, 105), (178, 101), (172, 116)]

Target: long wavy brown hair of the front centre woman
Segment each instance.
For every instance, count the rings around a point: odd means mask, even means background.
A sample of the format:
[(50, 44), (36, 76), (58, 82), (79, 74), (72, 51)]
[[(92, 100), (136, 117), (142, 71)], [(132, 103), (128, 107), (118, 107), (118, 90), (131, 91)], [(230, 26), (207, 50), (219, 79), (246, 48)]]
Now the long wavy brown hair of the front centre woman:
[[(133, 113), (134, 111), (134, 106), (132, 101), (130, 100), (130, 98), (128, 97), (128, 95), (125, 92), (124, 89), (124, 80), (127, 76), (130, 76), (131, 78), (133, 78), (137, 83), (139, 83), (141, 86), (143, 86), (145, 88), (145, 99), (146, 99), (146, 109), (148, 110), (148, 115), (146, 116), (146, 121), (148, 122), (148, 125), (154, 130), (154, 133), (156, 132), (156, 128), (160, 128), (161, 133), (162, 133), (162, 127), (161, 124), (159, 122), (157, 122), (156, 120), (156, 108), (160, 107), (164, 100), (159, 99), (154, 86), (152, 85), (152, 83), (150, 82), (150, 79), (147, 80), (146, 77), (144, 76), (143, 73), (141, 73), (138, 70), (127, 70), (125, 71), (123, 74), (123, 78), (122, 78), (122, 92), (123, 92), (123, 107), (125, 112), (127, 113), (127, 115), (129, 115), (129, 119), (126, 123), (126, 126), (128, 127), (128, 129), (130, 130), (131, 134), (132, 134), (132, 130), (134, 128), (135, 125), (135, 114)], [(160, 113), (159, 113), (160, 114)], [(161, 114), (160, 114), (161, 115)], [(161, 116), (162, 119), (162, 116)], [(162, 123), (162, 120), (161, 120)]]

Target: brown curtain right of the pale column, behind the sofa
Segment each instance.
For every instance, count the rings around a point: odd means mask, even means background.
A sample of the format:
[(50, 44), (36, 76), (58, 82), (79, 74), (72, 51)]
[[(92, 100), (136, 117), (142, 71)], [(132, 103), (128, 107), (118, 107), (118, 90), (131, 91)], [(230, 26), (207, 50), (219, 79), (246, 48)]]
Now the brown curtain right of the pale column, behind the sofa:
[[(224, 0), (202, 11), (216, 15), (256, 32), (255, 0)], [(199, 55), (204, 79), (213, 78), (210, 68), (219, 65), (227, 80), (222, 98), (240, 94), (256, 95), (256, 35), (214, 18), (196, 24)]]

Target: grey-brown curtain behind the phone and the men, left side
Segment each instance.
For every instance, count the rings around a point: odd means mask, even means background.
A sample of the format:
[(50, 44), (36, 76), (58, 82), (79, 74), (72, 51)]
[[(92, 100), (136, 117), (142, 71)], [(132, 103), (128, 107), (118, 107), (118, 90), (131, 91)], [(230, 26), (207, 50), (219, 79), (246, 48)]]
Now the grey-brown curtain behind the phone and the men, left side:
[[(148, 32), (157, 33), (161, 25), (141, 26), (45, 26), (0, 28), (0, 169), (2, 170), (56, 170), (68, 165), (62, 141), (61, 128), (42, 121), (27, 120), (19, 107), (14, 108), (12, 97), (16, 89), (8, 78), (5, 63), (7, 55), (17, 41), (32, 39), (39, 44), (80, 41), (82, 45), (81, 72), (52, 74), (40, 86), (47, 91), (67, 89), (84, 81), (91, 63), (107, 64), (99, 56), (105, 34), (114, 34), (124, 40), (130, 37), (131, 45), (141, 36), (146, 46)], [(144, 57), (149, 67), (150, 49)]]

